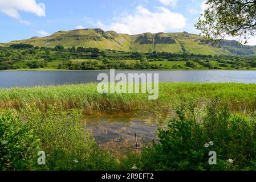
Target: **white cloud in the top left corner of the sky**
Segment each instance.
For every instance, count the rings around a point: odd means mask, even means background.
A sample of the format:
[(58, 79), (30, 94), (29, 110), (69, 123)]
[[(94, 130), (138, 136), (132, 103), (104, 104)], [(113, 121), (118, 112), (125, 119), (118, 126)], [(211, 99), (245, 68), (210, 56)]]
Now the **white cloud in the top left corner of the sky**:
[(40, 17), (46, 15), (44, 3), (37, 4), (35, 0), (0, 0), (0, 11), (21, 21), (19, 11), (33, 13)]

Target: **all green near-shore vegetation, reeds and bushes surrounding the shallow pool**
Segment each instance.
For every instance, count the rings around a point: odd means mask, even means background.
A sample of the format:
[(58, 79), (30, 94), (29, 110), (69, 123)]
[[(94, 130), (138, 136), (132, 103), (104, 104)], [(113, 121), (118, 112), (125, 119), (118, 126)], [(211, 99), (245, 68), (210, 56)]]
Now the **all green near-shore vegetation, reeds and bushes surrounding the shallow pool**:
[[(98, 94), (96, 84), (0, 90), (2, 170), (255, 170), (255, 84), (160, 84), (146, 94)], [(88, 132), (83, 114), (171, 109), (158, 142), (112, 154)], [(209, 143), (208, 147), (205, 144)], [(46, 165), (37, 164), (38, 151)], [(217, 165), (209, 165), (210, 151)]]

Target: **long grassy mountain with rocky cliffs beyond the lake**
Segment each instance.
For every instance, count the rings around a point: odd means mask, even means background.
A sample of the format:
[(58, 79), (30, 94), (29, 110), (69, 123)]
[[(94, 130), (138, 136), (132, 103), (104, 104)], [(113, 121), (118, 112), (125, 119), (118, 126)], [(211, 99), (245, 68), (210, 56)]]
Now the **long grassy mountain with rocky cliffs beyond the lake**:
[(199, 35), (188, 32), (157, 34), (144, 33), (139, 35), (117, 34), (115, 31), (103, 31), (100, 28), (87, 28), (71, 31), (59, 31), (44, 38), (32, 37), (26, 40), (17, 40), (5, 43), (32, 44), (34, 46), (55, 47), (62, 45), (66, 48), (93, 47), (116, 51), (137, 52), (170, 52), (194, 53), (201, 55), (255, 55), (256, 46), (238, 46), (234, 40), (223, 40), (217, 46), (212, 46)]

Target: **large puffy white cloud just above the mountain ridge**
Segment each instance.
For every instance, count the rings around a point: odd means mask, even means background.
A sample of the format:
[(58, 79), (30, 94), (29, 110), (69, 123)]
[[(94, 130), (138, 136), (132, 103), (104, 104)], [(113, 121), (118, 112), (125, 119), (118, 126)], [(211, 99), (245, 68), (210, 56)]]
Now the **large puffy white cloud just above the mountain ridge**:
[(157, 33), (184, 28), (186, 19), (182, 14), (172, 13), (165, 7), (158, 7), (157, 12), (152, 13), (143, 6), (138, 6), (133, 15), (123, 13), (119, 18), (114, 18), (113, 23), (105, 25), (99, 21), (97, 26), (123, 34)]

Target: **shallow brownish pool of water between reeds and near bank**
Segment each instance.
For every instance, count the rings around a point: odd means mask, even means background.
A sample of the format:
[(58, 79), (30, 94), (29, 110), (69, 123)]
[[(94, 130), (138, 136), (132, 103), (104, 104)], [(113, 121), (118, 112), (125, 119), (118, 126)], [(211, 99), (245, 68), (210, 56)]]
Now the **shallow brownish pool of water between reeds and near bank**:
[(136, 111), (121, 114), (86, 115), (87, 127), (97, 142), (104, 144), (135, 142), (135, 133), (139, 143), (150, 143), (156, 139), (159, 120), (155, 113)]

